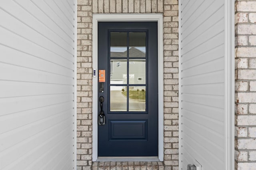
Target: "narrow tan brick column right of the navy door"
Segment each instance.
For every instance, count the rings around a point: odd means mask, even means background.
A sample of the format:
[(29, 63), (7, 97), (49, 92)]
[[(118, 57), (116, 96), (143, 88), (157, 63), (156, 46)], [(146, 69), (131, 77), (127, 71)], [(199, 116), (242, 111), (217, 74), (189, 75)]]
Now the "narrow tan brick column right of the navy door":
[(164, 165), (178, 170), (178, 0), (164, 0)]

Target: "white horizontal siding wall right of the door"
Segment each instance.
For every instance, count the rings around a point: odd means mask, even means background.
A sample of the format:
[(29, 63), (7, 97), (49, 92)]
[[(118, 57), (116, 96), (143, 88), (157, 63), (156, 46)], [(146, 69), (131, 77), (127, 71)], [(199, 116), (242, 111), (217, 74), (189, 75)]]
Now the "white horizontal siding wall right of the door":
[(224, 1), (181, 2), (181, 168), (224, 170)]

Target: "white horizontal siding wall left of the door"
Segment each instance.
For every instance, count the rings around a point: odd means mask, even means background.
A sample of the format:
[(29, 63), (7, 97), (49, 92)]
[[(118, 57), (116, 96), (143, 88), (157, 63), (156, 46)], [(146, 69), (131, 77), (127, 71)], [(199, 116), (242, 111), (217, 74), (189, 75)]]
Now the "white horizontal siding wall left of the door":
[(74, 167), (74, 1), (0, 3), (0, 169)]

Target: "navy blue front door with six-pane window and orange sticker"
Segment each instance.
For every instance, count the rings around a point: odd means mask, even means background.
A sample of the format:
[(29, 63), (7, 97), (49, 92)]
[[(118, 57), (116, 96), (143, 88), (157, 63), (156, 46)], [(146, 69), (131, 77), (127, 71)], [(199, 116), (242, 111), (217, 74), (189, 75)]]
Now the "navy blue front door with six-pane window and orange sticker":
[(98, 23), (98, 156), (158, 156), (157, 32), (157, 22)]

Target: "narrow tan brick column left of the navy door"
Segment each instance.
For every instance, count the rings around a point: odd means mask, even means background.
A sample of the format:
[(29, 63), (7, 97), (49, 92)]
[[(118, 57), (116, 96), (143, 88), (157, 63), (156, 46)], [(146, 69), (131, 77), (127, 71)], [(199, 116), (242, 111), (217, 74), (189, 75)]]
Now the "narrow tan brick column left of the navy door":
[(77, 170), (92, 166), (92, 0), (77, 6)]

